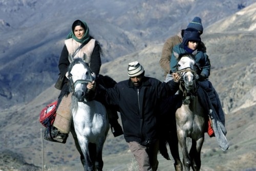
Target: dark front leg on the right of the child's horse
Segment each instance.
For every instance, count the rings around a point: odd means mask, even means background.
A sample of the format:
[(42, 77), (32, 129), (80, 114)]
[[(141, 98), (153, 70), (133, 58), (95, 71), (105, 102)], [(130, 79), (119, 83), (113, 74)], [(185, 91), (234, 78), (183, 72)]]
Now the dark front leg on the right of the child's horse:
[(200, 170), (201, 168), (201, 149), (203, 146), (203, 142), (204, 137), (198, 139), (197, 141), (192, 140), (189, 156), (191, 159), (191, 167), (193, 170)]

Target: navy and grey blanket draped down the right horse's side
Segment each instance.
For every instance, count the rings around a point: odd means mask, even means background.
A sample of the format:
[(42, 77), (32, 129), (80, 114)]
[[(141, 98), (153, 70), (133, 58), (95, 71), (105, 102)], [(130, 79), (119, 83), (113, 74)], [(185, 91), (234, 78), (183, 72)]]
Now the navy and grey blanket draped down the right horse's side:
[(218, 94), (212, 87), (210, 81), (205, 80), (198, 82), (198, 99), (200, 103), (205, 106), (206, 111), (208, 111), (218, 145), (226, 151), (229, 148), (229, 144), (225, 137), (227, 134), (225, 129), (225, 116)]

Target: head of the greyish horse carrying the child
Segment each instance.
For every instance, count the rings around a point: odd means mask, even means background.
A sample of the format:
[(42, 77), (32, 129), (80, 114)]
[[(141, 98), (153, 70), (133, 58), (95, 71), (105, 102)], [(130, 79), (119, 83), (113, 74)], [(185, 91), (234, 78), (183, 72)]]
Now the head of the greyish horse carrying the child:
[(195, 88), (196, 81), (196, 61), (192, 55), (182, 55), (178, 58), (178, 72), (182, 75), (182, 81), (187, 91)]

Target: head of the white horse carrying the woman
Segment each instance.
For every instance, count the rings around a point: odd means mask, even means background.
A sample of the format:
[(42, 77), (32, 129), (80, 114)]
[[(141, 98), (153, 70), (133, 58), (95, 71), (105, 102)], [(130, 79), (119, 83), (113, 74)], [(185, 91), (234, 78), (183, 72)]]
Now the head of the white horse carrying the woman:
[(88, 93), (87, 84), (94, 79), (88, 63), (84, 62), (81, 58), (75, 58), (70, 63), (68, 73), (71, 92), (75, 95), (77, 101), (86, 100)]

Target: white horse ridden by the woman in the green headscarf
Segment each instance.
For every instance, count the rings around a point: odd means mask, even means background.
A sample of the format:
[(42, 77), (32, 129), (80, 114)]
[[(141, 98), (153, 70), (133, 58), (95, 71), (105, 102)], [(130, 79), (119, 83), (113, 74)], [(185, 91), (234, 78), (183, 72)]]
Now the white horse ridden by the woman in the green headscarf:
[(88, 63), (75, 58), (68, 72), (74, 126), (71, 132), (81, 155), (81, 162), (84, 170), (102, 170), (102, 148), (110, 129), (106, 109), (102, 103), (89, 99), (87, 84), (93, 80), (93, 76)]

